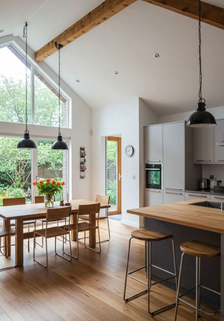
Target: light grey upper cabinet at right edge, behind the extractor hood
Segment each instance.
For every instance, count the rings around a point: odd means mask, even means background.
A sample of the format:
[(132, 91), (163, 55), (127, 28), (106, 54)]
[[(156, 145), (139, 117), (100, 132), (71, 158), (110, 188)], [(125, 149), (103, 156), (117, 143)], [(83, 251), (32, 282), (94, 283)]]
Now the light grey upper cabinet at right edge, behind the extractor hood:
[(224, 134), (224, 119), (219, 119), (216, 122), (217, 126), (214, 127), (214, 162), (224, 163), (224, 147), (216, 146), (216, 143), (222, 141), (222, 136)]

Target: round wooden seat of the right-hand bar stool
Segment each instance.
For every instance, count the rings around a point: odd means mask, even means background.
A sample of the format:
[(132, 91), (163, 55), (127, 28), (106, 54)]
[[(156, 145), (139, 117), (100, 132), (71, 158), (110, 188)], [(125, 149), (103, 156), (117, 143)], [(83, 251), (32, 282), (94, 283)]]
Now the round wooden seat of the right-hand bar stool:
[(180, 245), (182, 252), (198, 257), (216, 257), (221, 255), (221, 248), (211, 244), (189, 241)]

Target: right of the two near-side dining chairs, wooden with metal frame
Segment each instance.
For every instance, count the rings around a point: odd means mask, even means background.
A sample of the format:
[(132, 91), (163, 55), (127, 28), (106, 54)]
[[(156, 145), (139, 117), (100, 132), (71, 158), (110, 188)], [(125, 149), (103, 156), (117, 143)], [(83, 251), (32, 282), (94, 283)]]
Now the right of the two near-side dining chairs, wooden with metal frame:
[[(79, 223), (79, 217), (80, 216), (85, 216), (85, 215), (93, 215), (93, 214), (98, 214), (97, 215), (97, 225), (92, 225), (90, 223), (87, 222), (81, 222)], [(72, 256), (75, 259), (79, 258), (79, 239), (78, 239), (78, 233), (79, 232), (86, 232), (86, 231), (90, 231), (90, 230), (98, 230), (98, 237), (99, 237), (99, 246), (100, 246), (100, 250), (95, 250), (92, 247), (86, 246), (85, 242), (84, 242), (84, 246), (86, 248), (89, 248), (90, 250), (100, 253), (101, 252), (101, 245), (100, 245), (100, 229), (99, 229), (99, 214), (100, 214), (100, 203), (96, 203), (96, 204), (88, 204), (88, 205), (79, 205), (78, 208), (78, 214), (77, 214), (77, 221), (75, 224), (70, 224), (70, 230), (75, 231), (76, 232), (76, 240), (77, 240), (77, 256)], [(66, 230), (68, 230), (68, 225), (65, 225), (64, 228)], [(85, 237), (84, 237), (85, 239)], [(66, 252), (63, 251), (64, 254), (68, 254)], [(69, 255), (69, 254), (68, 254)]]

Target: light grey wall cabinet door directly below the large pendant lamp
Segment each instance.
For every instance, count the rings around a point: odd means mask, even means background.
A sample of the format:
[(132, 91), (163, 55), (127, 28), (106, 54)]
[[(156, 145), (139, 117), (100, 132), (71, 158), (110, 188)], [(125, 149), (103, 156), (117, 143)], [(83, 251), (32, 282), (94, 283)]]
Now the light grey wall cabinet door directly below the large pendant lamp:
[(194, 163), (213, 163), (214, 128), (197, 127), (193, 131)]

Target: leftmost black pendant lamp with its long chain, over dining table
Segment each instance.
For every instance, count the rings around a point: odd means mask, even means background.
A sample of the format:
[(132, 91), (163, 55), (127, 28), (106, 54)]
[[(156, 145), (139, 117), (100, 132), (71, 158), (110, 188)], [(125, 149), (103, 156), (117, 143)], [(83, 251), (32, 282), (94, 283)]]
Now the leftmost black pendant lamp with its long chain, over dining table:
[(26, 130), (23, 139), (17, 144), (17, 148), (31, 149), (36, 148), (36, 144), (29, 138), (29, 131), (27, 129), (27, 22), (23, 28), (23, 38), (26, 38)]

